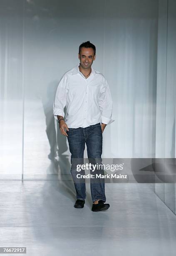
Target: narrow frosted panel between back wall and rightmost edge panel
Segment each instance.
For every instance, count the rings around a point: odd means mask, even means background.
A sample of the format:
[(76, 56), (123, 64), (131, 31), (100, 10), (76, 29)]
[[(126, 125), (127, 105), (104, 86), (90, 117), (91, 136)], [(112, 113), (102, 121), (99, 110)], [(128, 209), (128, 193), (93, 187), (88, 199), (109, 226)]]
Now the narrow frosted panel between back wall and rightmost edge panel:
[[(154, 162), (157, 165), (156, 181), (158, 175), (164, 173), (165, 157), (165, 119), (166, 119), (166, 59), (167, 59), (167, 9), (166, 0), (159, 0), (159, 17), (158, 17), (158, 54), (157, 54), (157, 90), (156, 90), (156, 143)], [(160, 169), (161, 168), (161, 169)], [(164, 180), (155, 184), (155, 192), (164, 202)]]

